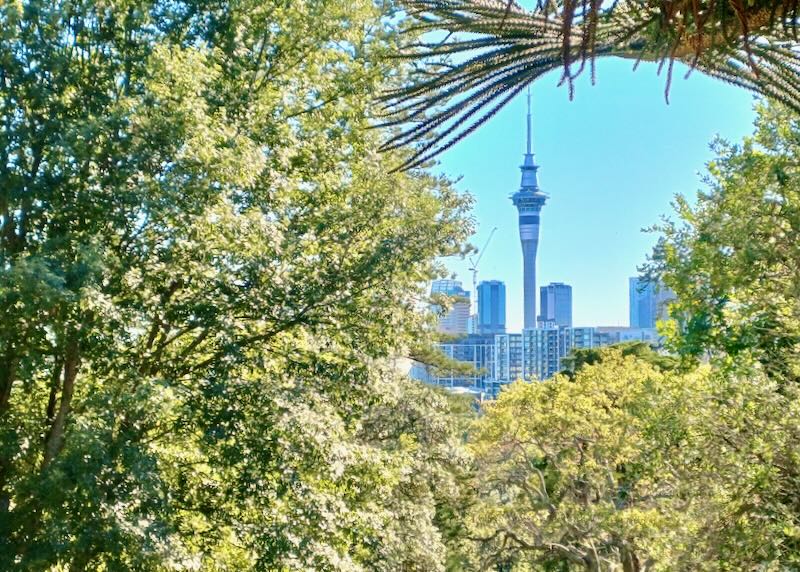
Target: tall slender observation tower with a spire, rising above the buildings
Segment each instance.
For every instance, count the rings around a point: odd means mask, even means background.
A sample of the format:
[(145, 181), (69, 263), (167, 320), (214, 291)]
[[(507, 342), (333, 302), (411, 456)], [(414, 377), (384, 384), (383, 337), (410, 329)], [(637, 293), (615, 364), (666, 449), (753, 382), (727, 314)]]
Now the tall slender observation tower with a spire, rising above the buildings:
[(528, 88), (528, 146), (525, 159), (520, 167), (522, 182), (519, 191), (511, 195), (514, 206), (519, 211), (519, 240), (522, 243), (523, 288), (525, 291), (524, 328), (536, 327), (536, 250), (539, 247), (539, 213), (547, 200), (547, 195), (539, 190), (536, 171), (539, 167), (533, 162), (531, 149), (531, 91)]

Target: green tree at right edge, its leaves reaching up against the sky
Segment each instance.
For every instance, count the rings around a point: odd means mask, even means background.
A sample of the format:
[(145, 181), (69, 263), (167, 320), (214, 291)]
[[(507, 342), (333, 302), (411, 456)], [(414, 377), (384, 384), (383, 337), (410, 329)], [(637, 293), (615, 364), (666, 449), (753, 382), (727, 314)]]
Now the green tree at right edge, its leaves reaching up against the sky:
[(656, 227), (648, 272), (678, 297), (680, 353), (754, 359), (786, 382), (800, 376), (798, 134), (791, 112), (759, 107), (754, 137), (715, 142), (697, 204), (678, 197), (680, 220)]

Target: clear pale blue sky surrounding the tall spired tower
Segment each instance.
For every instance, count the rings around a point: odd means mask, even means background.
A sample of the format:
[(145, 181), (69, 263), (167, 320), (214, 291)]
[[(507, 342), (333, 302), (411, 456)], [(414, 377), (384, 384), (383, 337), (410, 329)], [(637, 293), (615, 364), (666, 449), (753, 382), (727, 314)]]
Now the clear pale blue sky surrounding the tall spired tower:
[[(749, 92), (700, 73), (684, 80), (686, 68), (676, 64), (667, 105), (665, 75), (653, 64), (635, 72), (632, 65), (599, 60), (596, 85), (582, 76), (573, 101), (557, 86), (558, 72), (533, 86), (533, 147), (539, 184), (550, 195), (541, 216), (538, 285), (572, 285), (575, 325), (627, 325), (628, 277), (656, 240), (642, 229), (671, 215), (676, 194), (694, 197), (702, 188), (716, 135), (738, 141), (752, 132)], [(506, 283), (510, 331), (522, 327), (522, 254), (509, 195), (520, 182), (525, 114), (522, 94), (440, 159), (440, 169), (461, 177), (458, 188), (476, 199), (472, 243), (483, 246), (498, 227), (478, 280)], [(468, 262), (447, 265), (471, 290)]]

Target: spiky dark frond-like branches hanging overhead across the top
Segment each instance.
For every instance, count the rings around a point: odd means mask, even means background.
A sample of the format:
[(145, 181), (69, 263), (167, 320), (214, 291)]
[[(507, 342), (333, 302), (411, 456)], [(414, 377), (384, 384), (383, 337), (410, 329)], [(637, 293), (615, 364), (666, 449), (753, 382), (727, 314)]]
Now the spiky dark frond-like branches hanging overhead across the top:
[(677, 60), (800, 112), (798, 0), (545, 0), (532, 11), (513, 0), (403, 1), (417, 30), (447, 33), (401, 54), (424, 72), (383, 98), (386, 125), (401, 126), (385, 148), (418, 144), (403, 169), (454, 145), (548, 71), (562, 70), (571, 95), (587, 68), (594, 80), (598, 57), (660, 62), (667, 97)]

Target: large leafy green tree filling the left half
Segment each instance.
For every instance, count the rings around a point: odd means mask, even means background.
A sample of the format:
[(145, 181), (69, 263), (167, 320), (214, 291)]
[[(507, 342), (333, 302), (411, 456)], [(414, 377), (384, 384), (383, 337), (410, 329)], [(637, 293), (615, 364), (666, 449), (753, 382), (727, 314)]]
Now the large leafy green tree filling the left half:
[(394, 385), (444, 415), (386, 363), (470, 232), (367, 129), (403, 26), (369, 0), (0, 7), (0, 568), (442, 566), (455, 441), (421, 413), (364, 433)]

